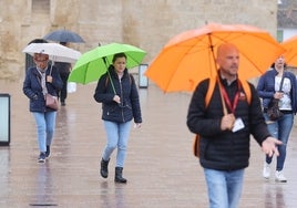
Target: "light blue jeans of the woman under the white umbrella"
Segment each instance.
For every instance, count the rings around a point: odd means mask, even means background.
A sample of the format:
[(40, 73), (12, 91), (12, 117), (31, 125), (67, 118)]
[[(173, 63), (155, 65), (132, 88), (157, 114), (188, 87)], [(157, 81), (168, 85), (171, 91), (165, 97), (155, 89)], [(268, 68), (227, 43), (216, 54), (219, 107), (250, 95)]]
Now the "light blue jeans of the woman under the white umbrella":
[(33, 112), (32, 114), (37, 123), (39, 150), (45, 153), (47, 145), (50, 146), (52, 143), (57, 112)]

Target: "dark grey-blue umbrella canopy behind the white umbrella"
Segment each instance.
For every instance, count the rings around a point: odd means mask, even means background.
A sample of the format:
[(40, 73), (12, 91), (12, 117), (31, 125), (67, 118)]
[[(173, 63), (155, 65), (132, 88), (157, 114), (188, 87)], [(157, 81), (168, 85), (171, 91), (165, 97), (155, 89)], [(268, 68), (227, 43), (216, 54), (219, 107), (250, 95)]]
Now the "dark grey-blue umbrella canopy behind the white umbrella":
[(43, 37), (45, 40), (57, 42), (84, 43), (84, 40), (75, 32), (69, 30), (55, 30)]

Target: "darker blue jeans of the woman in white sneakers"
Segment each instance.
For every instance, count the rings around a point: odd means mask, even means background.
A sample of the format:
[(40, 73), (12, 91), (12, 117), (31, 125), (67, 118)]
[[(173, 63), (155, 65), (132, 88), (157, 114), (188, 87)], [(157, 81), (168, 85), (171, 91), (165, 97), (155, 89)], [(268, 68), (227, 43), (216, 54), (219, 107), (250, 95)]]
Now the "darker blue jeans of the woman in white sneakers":
[[(268, 116), (264, 113), (264, 117), (268, 121)], [(269, 133), (281, 141), (283, 144), (278, 146), (279, 156), (276, 160), (276, 170), (281, 170), (284, 168), (286, 154), (287, 154), (287, 143), (289, 139), (289, 134), (294, 124), (294, 114), (284, 114), (281, 118), (274, 123), (268, 124)], [(266, 156), (266, 163), (270, 164), (273, 162), (273, 157)]]

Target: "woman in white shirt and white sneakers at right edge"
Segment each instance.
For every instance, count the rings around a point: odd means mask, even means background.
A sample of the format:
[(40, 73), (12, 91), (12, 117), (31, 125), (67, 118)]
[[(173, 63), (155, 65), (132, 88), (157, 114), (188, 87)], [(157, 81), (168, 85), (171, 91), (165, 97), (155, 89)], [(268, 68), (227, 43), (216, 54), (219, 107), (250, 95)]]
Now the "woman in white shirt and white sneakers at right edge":
[[(287, 178), (283, 169), (286, 159), (287, 143), (294, 124), (294, 115), (297, 111), (297, 83), (295, 75), (286, 71), (283, 55), (272, 66), (272, 70), (260, 76), (257, 91), (259, 97), (263, 98), (264, 117), (268, 124), (268, 129), (274, 137), (283, 143), (283, 145), (278, 146), (280, 156), (276, 160), (275, 180), (286, 183)], [(283, 77), (284, 81), (279, 91)], [(273, 98), (279, 100), (279, 110), (284, 114), (277, 121), (269, 121), (267, 115), (268, 104)], [(272, 162), (273, 157), (266, 155), (263, 168), (263, 177), (266, 179), (270, 177)]]

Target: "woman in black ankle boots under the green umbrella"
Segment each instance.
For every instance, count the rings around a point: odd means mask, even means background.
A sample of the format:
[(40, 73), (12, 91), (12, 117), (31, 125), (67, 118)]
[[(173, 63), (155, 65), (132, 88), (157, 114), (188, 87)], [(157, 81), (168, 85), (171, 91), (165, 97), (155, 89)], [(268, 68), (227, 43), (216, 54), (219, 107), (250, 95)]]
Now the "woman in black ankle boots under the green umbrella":
[(102, 119), (107, 137), (102, 154), (100, 174), (103, 178), (107, 178), (110, 157), (117, 148), (114, 181), (126, 183), (122, 171), (131, 121), (134, 118), (135, 127), (141, 127), (142, 115), (137, 87), (134, 77), (127, 72), (124, 53), (114, 54), (112, 65), (98, 81), (94, 100), (102, 103)]

